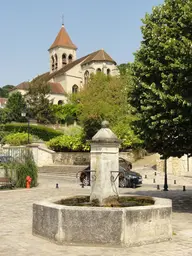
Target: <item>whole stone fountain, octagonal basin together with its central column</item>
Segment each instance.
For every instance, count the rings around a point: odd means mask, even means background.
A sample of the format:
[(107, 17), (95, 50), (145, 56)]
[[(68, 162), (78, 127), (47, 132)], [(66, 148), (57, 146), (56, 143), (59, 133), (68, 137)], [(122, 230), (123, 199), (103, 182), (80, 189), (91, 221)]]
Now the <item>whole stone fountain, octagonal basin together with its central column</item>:
[(63, 197), (34, 203), (34, 235), (59, 244), (127, 247), (171, 239), (169, 199), (152, 198), (153, 204), (147, 206), (106, 207), (110, 198), (119, 198), (119, 145), (103, 122), (91, 142), (90, 202), (99, 207), (59, 204)]

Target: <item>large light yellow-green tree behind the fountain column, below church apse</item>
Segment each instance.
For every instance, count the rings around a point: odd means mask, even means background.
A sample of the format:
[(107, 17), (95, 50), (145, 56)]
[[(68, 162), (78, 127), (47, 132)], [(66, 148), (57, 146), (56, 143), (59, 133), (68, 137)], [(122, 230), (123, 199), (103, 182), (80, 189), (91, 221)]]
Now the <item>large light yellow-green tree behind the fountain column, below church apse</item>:
[[(102, 120), (107, 120), (111, 129), (117, 131), (119, 138), (124, 141), (123, 145), (133, 146), (137, 139), (131, 128), (131, 120), (134, 117), (127, 103), (127, 81), (128, 78), (125, 76), (112, 77), (98, 73), (90, 77), (88, 84), (77, 95), (80, 113), (78, 118), (87, 139), (95, 135), (101, 127)], [(140, 142), (137, 140), (137, 143)]]

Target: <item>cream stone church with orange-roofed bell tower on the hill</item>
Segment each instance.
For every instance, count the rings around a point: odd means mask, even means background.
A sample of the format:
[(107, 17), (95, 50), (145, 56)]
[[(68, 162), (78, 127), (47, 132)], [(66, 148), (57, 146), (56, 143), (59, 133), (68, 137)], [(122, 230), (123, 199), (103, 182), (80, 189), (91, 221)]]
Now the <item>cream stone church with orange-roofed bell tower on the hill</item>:
[[(50, 84), (49, 99), (53, 104), (67, 102), (67, 95), (77, 93), (88, 82), (92, 73), (119, 74), (116, 62), (103, 50), (97, 50), (77, 59), (77, 46), (72, 42), (64, 25), (49, 48), (50, 70), (34, 79), (45, 79)], [(17, 85), (12, 91), (27, 93), (29, 82)]]

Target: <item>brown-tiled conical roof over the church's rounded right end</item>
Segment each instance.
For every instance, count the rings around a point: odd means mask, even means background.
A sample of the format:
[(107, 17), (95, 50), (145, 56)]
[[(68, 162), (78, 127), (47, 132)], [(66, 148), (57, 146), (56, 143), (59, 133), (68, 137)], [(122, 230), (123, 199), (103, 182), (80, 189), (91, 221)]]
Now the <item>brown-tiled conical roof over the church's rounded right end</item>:
[(116, 62), (103, 49), (89, 54), (88, 58), (86, 58), (81, 65), (88, 64), (92, 61), (107, 61), (116, 64)]

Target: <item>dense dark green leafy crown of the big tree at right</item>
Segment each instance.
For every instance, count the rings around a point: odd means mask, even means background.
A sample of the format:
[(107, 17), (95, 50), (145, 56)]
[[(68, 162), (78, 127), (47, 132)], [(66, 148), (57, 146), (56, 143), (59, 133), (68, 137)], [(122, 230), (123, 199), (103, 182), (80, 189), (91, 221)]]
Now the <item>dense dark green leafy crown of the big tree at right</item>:
[(132, 67), (135, 129), (165, 159), (192, 153), (191, 13), (191, 0), (165, 0), (146, 14)]

